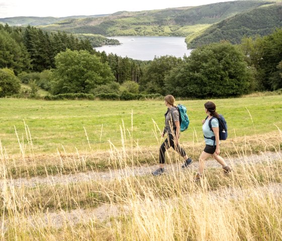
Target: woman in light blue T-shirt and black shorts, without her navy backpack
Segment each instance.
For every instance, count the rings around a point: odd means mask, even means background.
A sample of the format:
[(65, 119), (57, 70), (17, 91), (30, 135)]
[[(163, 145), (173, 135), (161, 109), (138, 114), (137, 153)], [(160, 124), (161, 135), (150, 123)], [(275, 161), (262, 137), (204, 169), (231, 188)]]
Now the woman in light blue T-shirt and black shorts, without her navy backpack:
[[(219, 135), (219, 114), (216, 112), (215, 103), (208, 101), (204, 104), (207, 118), (202, 120), (202, 130), (204, 135), (205, 147), (199, 157), (199, 169), (196, 174), (195, 181), (199, 181), (203, 176), (204, 160), (213, 156), (219, 164), (222, 165), (224, 173), (231, 172), (231, 168), (226, 164), (224, 158), (220, 154), (220, 135)], [(212, 129), (209, 127), (211, 122)]]

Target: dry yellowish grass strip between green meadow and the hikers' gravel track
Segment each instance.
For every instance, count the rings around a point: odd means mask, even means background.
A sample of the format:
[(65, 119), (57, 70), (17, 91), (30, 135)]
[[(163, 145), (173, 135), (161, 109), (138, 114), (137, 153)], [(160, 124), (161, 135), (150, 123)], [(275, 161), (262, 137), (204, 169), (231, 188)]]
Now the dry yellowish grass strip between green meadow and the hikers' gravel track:
[[(248, 109), (247, 109), (248, 111)], [(252, 120), (252, 116), (249, 113)], [(252, 120), (253, 123), (253, 120)], [(15, 128), (15, 133), (19, 147), (19, 154), (8, 154), (6, 148), (0, 140), (0, 162), (7, 169), (8, 178), (31, 178), (49, 175), (69, 175), (89, 171), (107, 171), (109, 169), (122, 169), (126, 165), (155, 165), (158, 163), (158, 151), (161, 142), (160, 128), (154, 122), (153, 133), (157, 146), (139, 146), (138, 140), (134, 139), (133, 113), (131, 113), (131, 127), (125, 128), (124, 123), (120, 125), (121, 148), (116, 147), (110, 140), (108, 150), (94, 150), (91, 148), (86, 129), (85, 136), (89, 145), (88, 151), (67, 153), (66, 150), (57, 149), (52, 154), (34, 153), (34, 146), (28, 125), (24, 123), (25, 136), (19, 136)], [(256, 134), (253, 136), (234, 137), (224, 141), (221, 147), (224, 157), (237, 157), (260, 153), (261, 151), (276, 151), (282, 147), (281, 131), (276, 126), (277, 131), (266, 134)], [(256, 128), (253, 123), (254, 133)], [(102, 131), (102, 130), (101, 130)], [(231, 130), (230, 130), (231, 131)], [(197, 159), (204, 145), (203, 140), (199, 141), (196, 131), (190, 141), (180, 140), (181, 146), (186, 150), (192, 159)], [(242, 154), (241, 154), (242, 153)], [(121, 161), (119, 161), (121, 159)], [(178, 155), (172, 155), (172, 163), (179, 161)]]

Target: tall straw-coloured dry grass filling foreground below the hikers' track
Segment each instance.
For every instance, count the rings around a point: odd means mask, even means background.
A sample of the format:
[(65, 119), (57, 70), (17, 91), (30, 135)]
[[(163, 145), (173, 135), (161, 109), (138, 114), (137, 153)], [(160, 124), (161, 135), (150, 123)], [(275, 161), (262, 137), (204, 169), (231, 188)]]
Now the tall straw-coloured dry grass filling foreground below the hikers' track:
[[(132, 145), (125, 145), (126, 131), (130, 133), (120, 127), (121, 149), (110, 143), (113, 167), (123, 168), (120, 178), (110, 180), (11, 185), (10, 163), (15, 165), (15, 160), (0, 148), (1, 239), (282, 240), (279, 129), (275, 145), (260, 140), (265, 150), (273, 147), (276, 157), (249, 163), (247, 154), (253, 146), (248, 141), (243, 147), (233, 143), (237, 156), (245, 157), (245, 162), (231, 165), (229, 176), (220, 168), (206, 169), (199, 183), (193, 182), (195, 170), (189, 169), (171, 169), (160, 177), (150, 173), (135, 176), (133, 168), (142, 162)], [(129, 136), (133, 143), (133, 134)], [(32, 146), (29, 149), (32, 151)], [(168, 151), (167, 157), (167, 165), (180, 166), (182, 161), (174, 151)], [(36, 163), (34, 159), (26, 158), (22, 146), (22, 167), (29, 170)], [(63, 177), (66, 163), (59, 160), (56, 174)], [(80, 161), (86, 166), (84, 158)], [(36, 165), (33, 168), (36, 172)], [(50, 174), (46, 171), (46, 175)], [(103, 204), (115, 207), (116, 212), (105, 211), (105, 218), (99, 218), (92, 211)], [(69, 215), (74, 211), (82, 213), (80, 218)]]

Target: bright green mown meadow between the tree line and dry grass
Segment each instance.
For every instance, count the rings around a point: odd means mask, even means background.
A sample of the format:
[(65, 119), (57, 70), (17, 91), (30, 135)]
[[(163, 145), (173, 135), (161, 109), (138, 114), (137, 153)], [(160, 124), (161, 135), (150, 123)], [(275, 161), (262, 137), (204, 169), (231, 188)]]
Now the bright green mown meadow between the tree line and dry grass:
[[(177, 101), (186, 105), (190, 119), (188, 130), (181, 133), (182, 142), (203, 140), (201, 120), (205, 118), (203, 104), (206, 101)], [(255, 138), (256, 134), (270, 133), (277, 127), (282, 129), (281, 96), (217, 99), (214, 102), (218, 112), (227, 119), (229, 138), (245, 135)], [(19, 142), (25, 144), (28, 152), (29, 138), (24, 123), (31, 133), (35, 153), (56, 153), (63, 148), (66, 152), (76, 152), (76, 148), (79, 151), (109, 149), (108, 140), (117, 147), (122, 146), (122, 139), (126, 146), (131, 143), (133, 146), (159, 145), (160, 132), (157, 130), (156, 137), (154, 121), (160, 129), (164, 127), (166, 106), (163, 101), (0, 99), (0, 111), (0, 139), (8, 154), (20, 152)]]

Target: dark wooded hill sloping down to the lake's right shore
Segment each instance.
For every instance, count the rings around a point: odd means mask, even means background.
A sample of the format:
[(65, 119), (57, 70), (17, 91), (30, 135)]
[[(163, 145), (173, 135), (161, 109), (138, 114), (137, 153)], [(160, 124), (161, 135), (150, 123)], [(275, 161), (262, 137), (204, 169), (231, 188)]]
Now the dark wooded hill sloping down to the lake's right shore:
[(282, 26), (282, 4), (262, 6), (246, 13), (237, 14), (208, 27), (198, 36), (187, 37), (188, 48), (227, 40), (240, 43), (243, 37), (267, 35), (275, 27)]

